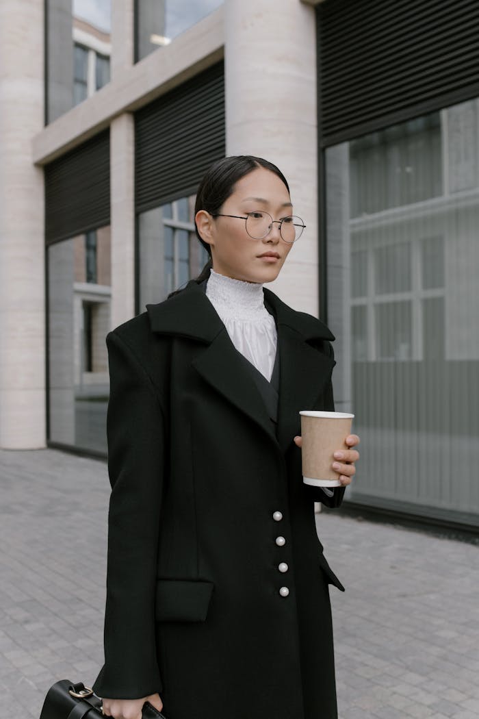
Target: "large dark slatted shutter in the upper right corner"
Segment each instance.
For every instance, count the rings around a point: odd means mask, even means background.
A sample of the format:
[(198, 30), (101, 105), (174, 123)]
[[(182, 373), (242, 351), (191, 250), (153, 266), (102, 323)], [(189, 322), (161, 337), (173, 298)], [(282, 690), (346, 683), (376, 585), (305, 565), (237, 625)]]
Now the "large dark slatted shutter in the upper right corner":
[(479, 95), (478, 0), (325, 0), (317, 38), (323, 146)]

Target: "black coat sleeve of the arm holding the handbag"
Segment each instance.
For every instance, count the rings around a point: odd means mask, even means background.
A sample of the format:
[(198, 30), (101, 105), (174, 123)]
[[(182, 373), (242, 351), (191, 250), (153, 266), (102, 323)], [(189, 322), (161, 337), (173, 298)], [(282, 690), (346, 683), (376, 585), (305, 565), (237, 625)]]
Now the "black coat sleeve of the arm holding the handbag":
[(162, 690), (154, 601), (164, 467), (164, 413), (147, 372), (116, 331), (106, 338), (106, 432), (111, 496), (99, 697), (138, 699)]

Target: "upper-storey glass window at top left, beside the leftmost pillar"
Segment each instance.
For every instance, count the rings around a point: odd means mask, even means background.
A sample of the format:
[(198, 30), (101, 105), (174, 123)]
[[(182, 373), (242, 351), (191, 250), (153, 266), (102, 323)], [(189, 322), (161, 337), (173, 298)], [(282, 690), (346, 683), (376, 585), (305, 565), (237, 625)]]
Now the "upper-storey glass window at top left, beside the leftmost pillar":
[(46, 0), (45, 122), (110, 81), (111, 0)]

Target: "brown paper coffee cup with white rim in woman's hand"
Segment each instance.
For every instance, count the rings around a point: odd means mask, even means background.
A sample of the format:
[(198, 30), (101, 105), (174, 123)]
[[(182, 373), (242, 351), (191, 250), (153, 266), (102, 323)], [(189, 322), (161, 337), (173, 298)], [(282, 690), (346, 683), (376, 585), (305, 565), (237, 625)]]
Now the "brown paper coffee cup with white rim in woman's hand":
[(332, 469), (334, 452), (349, 449), (345, 444), (351, 434), (353, 414), (302, 410), (302, 473), (303, 482), (315, 487), (340, 487), (338, 472)]

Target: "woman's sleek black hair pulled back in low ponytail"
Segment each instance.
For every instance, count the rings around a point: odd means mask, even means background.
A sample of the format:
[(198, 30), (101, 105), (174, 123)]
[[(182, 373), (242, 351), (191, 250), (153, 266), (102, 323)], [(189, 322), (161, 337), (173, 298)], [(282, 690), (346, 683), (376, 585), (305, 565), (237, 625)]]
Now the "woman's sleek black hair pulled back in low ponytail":
[[(273, 165), (272, 162), (264, 160), (262, 157), (254, 157), (254, 155), (231, 155), (230, 157), (223, 157), (223, 160), (214, 162), (203, 177), (203, 180), (201, 180), (196, 195), (195, 215), (200, 210), (206, 210), (211, 214), (218, 212), (223, 203), (233, 194), (236, 183), (241, 180), (241, 178), (253, 172), (253, 170), (259, 168), (270, 170), (271, 173), (277, 175), (289, 192), (287, 179), (284, 177), (282, 171), (279, 170), (276, 165)], [(205, 267), (201, 270), (200, 275), (195, 278), (195, 282), (200, 284), (210, 276), (210, 269), (213, 265), (210, 245), (201, 239), (196, 222), (195, 231), (196, 237), (200, 240), (201, 244), (203, 244), (203, 247), (210, 256)], [(181, 292), (181, 290), (170, 293), (168, 297), (176, 295), (178, 292)]]

